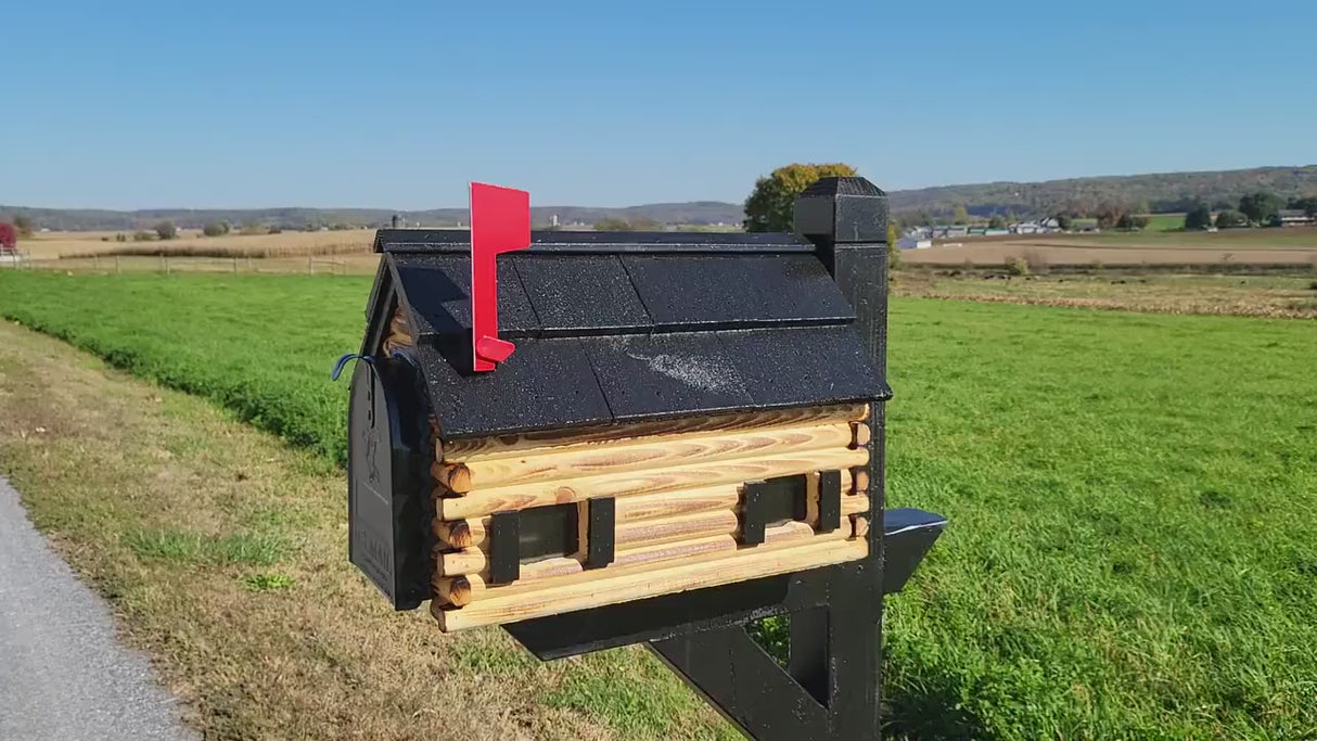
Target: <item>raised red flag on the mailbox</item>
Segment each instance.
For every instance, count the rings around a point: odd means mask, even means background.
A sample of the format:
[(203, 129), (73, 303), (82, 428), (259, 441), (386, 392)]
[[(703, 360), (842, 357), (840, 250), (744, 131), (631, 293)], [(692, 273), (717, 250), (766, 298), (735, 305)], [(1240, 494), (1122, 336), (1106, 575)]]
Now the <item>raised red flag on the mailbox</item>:
[(498, 338), (498, 255), (531, 246), (531, 193), (471, 183), (471, 370), (491, 371), (516, 347)]

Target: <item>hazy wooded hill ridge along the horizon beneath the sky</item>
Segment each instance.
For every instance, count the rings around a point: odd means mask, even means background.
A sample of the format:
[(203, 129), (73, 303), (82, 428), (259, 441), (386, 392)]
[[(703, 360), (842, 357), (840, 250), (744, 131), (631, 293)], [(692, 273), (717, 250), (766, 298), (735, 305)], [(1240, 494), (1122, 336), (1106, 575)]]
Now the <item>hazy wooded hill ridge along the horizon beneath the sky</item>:
[[(880, 183), (881, 184), (881, 183)], [(892, 191), (892, 211), (902, 215), (923, 212), (951, 215), (956, 205), (969, 213), (992, 216), (1014, 213), (1035, 217), (1076, 211), (1092, 213), (1105, 204), (1119, 204), (1139, 212), (1169, 213), (1187, 211), (1195, 201), (1213, 208), (1235, 207), (1239, 197), (1271, 191), (1287, 199), (1317, 195), (1317, 165), (1305, 167), (1255, 167), (1214, 172), (1163, 172), (1072, 178), (1043, 183), (980, 183), (940, 186), (915, 191)], [(0, 218), (24, 215), (38, 228), (54, 230), (134, 230), (159, 221), (180, 228), (200, 228), (211, 221), (232, 225), (308, 228), (349, 224), (385, 226), (394, 215), (410, 226), (454, 226), (466, 220), (465, 208), (429, 211), (389, 211), (382, 208), (259, 208), (259, 209), (179, 209), (141, 211), (58, 209), (0, 205)], [(545, 225), (556, 215), (560, 224), (594, 224), (603, 218), (651, 218), (660, 224), (740, 224), (741, 205), (722, 201), (656, 203), (630, 208), (590, 208), (578, 205), (536, 207), (531, 218)]]

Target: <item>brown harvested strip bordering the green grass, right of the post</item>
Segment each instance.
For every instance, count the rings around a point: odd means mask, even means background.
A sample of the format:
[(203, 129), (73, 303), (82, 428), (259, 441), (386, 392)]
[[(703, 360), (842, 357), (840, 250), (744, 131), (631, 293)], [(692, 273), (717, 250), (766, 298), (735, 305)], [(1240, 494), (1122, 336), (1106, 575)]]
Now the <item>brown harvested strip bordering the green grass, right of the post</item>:
[(1152, 313), (1317, 319), (1317, 274), (1008, 276), (909, 268), (893, 276), (893, 291), (900, 296)]

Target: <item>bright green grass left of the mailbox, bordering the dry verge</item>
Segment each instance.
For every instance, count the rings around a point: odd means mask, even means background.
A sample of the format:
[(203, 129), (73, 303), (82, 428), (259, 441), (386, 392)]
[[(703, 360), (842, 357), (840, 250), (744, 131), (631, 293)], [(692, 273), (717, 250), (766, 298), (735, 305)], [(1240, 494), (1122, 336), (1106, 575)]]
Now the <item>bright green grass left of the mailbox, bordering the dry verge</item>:
[(244, 421), (346, 459), (346, 384), (329, 371), (361, 347), (363, 278), (0, 275), (0, 312)]

